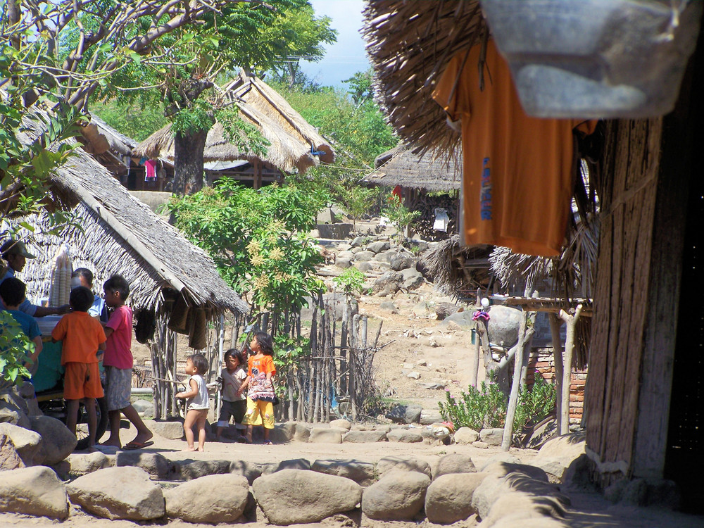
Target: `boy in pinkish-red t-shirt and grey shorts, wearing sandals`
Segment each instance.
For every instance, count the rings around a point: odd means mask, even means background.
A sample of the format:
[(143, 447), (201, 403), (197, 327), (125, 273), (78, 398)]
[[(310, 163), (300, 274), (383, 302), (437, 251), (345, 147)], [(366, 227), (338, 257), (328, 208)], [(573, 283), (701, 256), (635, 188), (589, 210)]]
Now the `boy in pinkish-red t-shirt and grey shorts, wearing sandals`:
[(152, 432), (147, 429), (137, 410), (132, 407), (132, 308), (125, 306), (130, 295), (130, 285), (122, 275), (113, 275), (103, 284), (105, 303), (114, 308), (108, 322), (104, 323), (106, 379), (106, 401), (108, 403), (108, 420), (110, 420), (110, 437), (103, 446), (122, 447), (120, 444), (120, 413), (137, 428), (137, 436), (125, 444), (124, 449), (142, 449), (151, 446)]

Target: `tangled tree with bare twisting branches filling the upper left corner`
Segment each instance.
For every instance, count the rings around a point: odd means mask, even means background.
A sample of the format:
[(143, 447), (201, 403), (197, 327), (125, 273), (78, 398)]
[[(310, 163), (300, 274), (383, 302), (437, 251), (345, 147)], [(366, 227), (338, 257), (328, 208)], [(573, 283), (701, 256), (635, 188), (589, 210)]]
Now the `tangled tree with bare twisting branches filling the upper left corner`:
[[(62, 142), (78, 134), (80, 111), (98, 87), (107, 87), (117, 73), (144, 58), (157, 62), (157, 39), (232, 3), (9, 0), (1, 4), (2, 210), (28, 213), (46, 203), (49, 176), (70, 156), (71, 147)], [(243, 9), (261, 5), (258, 0), (237, 2)], [(30, 114), (38, 101), (52, 112)], [(43, 130), (29, 143), (18, 139), (27, 119), (42, 121), (37, 129)]]

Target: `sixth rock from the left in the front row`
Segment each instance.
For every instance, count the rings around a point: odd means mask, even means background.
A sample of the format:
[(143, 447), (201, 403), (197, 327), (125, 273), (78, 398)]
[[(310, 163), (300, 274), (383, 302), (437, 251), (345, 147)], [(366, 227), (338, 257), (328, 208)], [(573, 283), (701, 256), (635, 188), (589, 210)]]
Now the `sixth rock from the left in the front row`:
[(437, 477), (425, 494), (425, 515), (430, 522), (451, 524), (477, 513), (472, 495), (486, 473), (444, 474)]

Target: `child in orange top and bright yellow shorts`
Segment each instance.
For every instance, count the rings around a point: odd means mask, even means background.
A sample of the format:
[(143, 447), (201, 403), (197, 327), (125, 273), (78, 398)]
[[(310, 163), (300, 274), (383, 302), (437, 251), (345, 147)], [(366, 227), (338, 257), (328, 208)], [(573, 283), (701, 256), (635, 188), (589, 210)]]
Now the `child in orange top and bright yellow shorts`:
[(247, 426), (247, 441), (252, 441), (252, 426), (264, 426), (264, 444), (271, 445), (269, 439), (270, 429), (274, 429), (274, 385), (272, 377), (276, 375), (276, 367), (272, 356), (274, 344), (271, 336), (266, 332), (254, 334), (249, 348), (254, 356), (249, 357), (249, 371), (247, 379), (237, 391), (237, 395), (249, 386), (247, 393), (247, 413), (242, 423)]

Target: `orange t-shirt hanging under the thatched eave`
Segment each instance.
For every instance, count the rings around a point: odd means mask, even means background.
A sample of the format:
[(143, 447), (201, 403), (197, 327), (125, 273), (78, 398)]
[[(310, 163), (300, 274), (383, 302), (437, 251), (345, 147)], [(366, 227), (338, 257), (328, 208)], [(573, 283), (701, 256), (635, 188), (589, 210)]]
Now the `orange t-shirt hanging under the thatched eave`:
[(465, 244), (558, 255), (572, 198), (572, 129), (584, 123), (579, 130), (591, 134), (596, 121), (529, 117), (492, 40), (480, 90), (480, 51), (472, 47), (466, 61), (467, 51), (455, 55), (433, 92), (451, 120), (462, 120)]

